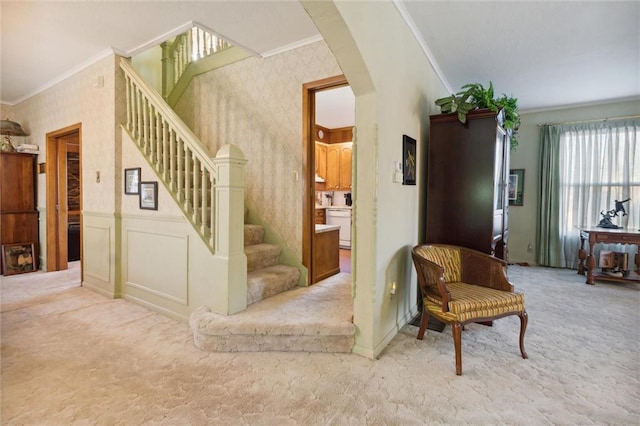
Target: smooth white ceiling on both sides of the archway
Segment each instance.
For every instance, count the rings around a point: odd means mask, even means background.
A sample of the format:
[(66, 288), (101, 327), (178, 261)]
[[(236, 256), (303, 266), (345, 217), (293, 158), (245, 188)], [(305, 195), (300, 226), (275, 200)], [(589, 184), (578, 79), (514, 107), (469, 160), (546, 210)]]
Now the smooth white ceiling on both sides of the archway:
[[(640, 98), (638, 1), (394, 3), (450, 91), (492, 81), (523, 111)], [(0, 8), (0, 100), (8, 104), (193, 23), (263, 56), (319, 39), (296, 1), (2, 0)]]

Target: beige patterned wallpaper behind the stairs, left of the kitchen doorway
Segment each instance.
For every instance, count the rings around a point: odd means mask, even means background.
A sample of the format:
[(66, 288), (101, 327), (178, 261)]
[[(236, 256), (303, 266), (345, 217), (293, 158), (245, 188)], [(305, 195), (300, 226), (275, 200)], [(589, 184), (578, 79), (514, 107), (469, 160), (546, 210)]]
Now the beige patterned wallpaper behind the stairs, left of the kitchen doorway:
[(342, 74), (324, 41), (249, 58), (194, 79), (176, 105), (212, 156), (238, 145), (246, 200), (302, 258), (302, 85)]

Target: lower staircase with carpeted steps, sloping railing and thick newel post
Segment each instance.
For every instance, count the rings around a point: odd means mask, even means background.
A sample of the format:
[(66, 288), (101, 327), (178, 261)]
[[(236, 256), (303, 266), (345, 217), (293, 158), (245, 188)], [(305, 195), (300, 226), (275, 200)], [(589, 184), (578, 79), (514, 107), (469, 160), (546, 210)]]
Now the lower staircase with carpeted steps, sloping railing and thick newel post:
[(243, 225), (242, 214), (236, 214), (243, 209), (246, 161), (241, 151), (226, 145), (211, 158), (127, 61), (121, 68), (127, 89), (123, 127), (211, 255), (225, 265), (211, 277), (219, 289), (212, 296), (226, 300), (227, 308), (221, 310), (234, 315), (197, 308), (190, 317), (196, 346), (209, 351), (351, 352), (351, 276), (338, 274), (320, 285), (297, 287), (298, 268), (279, 264), (280, 247), (264, 243), (264, 229)]

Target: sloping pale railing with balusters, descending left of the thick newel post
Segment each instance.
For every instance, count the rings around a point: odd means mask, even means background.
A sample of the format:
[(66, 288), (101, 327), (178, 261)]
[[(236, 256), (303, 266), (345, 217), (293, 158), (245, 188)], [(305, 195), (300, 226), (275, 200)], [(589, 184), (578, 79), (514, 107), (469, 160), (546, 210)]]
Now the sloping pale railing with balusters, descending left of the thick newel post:
[(127, 60), (126, 129), (207, 246), (215, 249), (217, 167), (207, 148)]

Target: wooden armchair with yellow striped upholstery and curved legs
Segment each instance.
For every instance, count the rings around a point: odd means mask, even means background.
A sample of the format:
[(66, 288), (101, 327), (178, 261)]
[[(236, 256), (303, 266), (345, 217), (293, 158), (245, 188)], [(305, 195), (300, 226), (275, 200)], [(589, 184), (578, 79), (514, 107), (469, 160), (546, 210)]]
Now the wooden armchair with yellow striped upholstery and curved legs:
[(520, 317), (520, 353), (524, 350), (527, 311), (524, 295), (507, 280), (506, 262), (464, 247), (423, 244), (413, 248), (413, 263), (423, 309), (417, 338), (422, 340), (429, 316), (451, 325), (456, 374), (462, 374), (462, 329), (468, 323), (492, 325), (493, 320)]

